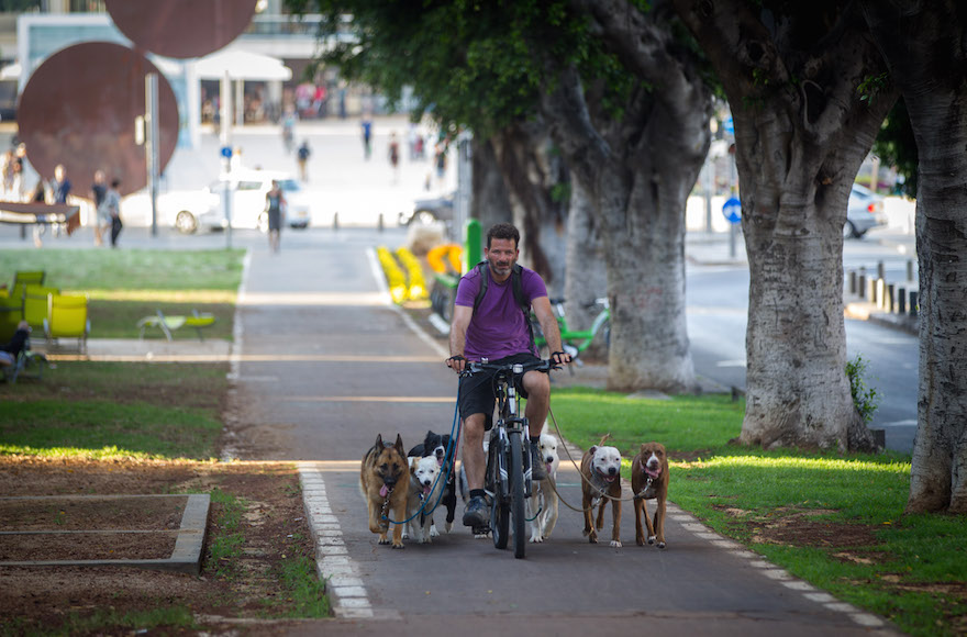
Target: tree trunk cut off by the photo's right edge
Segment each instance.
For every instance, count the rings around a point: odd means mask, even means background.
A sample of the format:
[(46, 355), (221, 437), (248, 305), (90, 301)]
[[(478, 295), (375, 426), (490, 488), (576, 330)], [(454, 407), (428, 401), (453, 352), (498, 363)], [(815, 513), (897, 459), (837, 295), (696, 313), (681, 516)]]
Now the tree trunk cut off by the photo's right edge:
[(908, 513), (967, 513), (967, 13), (955, 4), (864, 2), (920, 156), (920, 400)]

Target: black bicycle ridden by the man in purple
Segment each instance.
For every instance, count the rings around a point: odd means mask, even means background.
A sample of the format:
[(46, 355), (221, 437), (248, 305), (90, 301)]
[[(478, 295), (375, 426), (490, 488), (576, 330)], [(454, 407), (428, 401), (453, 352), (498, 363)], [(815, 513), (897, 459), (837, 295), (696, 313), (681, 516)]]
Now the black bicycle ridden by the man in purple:
[(498, 415), (490, 429), (484, 489), (490, 499), (493, 546), (501, 550), (507, 548), (513, 518), (513, 549), (518, 559), (524, 557), (527, 546), (524, 500), (531, 495), (531, 449), (529, 436), (524, 435), (529, 423), (526, 416), (521, 415), (521, 396), (513, 378), (531, 370), (546, 373), (552, 369), (559, 369), (552, 360), (497, 365), (485, 358), (480, 362), (468, 361), (463, 372), (466, 376), (494, 372)]

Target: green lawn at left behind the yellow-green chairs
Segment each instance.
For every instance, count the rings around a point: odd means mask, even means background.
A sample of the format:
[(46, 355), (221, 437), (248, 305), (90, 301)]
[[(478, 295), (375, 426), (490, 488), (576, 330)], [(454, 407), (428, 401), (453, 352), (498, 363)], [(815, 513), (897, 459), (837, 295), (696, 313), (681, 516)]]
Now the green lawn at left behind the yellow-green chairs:
[[(0, 283), (16, 270), (44, 270), (45, 286), (90, 297), (91, 338), (136, 338), (137, 322), (154, 316), (215, 315), (207, 338), (232, 338), (244, 250), (13, 249), (0, 253)], [(163, 337), (155, 328), (146, 337)], [(194, 338), (193, 331), (176, 337)]]

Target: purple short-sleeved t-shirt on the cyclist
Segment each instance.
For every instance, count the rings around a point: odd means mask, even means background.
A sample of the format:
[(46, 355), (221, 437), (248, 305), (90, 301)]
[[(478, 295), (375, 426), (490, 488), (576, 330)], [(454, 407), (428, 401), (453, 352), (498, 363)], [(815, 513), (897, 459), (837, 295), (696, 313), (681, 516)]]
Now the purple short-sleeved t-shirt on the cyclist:
[[(514, 354), (532, 351), (531, 333), (524, 321), (524, 313), (513, 298), (512, 277), (508, 277), (503, 283), (498, 283), (490, 276), (490, 268), (485, 269), (485, 276), (490, 277), (490, 282), (487, 284), (487, 293), (480, 300), (480, 306), (474, 312), (470, 325), (467, 327), (464, 356), (470, 360), (480, 360), (485, 357), (498, 360)], [(474, 268), (460, 278), (455, 303), (473, 308), (479, 290), (480, 275), (479, 270)], [(547, 295), (547, 288), (541, 275), (527, 268), (521, 271), (521, 290), (524, 298), (530, 301)]]

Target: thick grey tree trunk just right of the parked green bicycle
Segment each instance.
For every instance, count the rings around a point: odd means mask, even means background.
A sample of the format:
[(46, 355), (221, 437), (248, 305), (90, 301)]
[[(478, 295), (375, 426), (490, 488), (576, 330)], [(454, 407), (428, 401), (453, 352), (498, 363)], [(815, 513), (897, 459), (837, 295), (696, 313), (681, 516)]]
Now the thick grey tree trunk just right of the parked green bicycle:
[(685, 209), (711, 143), (711, 89), (664, 7), (625, 0), (576, 4), (637, 86), (605, 108), (608, 86), (586, 91), (576, 68), (548, 60), (541, 112), (573, 181), (602, 228), (611, 303), (608, 388), (697, 389), (685, 314)]

